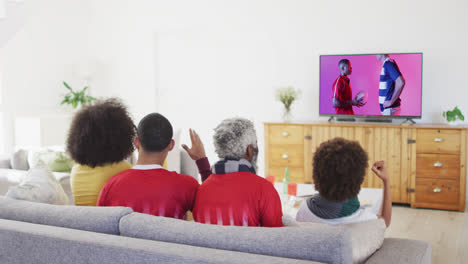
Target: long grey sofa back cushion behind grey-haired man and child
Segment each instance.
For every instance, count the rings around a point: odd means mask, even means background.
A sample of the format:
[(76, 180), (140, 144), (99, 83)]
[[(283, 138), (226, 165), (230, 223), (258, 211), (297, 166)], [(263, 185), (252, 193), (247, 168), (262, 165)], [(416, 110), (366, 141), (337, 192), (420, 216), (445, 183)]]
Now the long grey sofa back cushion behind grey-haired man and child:
[(123, 236), (262, 255), (351, 263), (351, 237), (343, 227), (239, 227), (200, 224), (132, 213), (122, 217)]

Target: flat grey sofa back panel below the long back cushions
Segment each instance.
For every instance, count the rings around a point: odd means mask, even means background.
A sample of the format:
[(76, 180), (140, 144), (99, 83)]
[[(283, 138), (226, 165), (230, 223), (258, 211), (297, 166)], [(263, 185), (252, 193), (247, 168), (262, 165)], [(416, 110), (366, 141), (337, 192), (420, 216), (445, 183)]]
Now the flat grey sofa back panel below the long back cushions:
[(194, 247), (4, 219), (0, 219), (0, 263), (312, 264), (306, 260)]

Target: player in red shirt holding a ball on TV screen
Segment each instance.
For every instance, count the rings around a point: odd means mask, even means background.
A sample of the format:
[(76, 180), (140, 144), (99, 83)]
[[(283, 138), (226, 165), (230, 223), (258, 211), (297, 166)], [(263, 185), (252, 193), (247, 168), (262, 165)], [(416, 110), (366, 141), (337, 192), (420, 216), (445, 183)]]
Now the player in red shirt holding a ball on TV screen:
[(353, 105), (361, 107), (364, 105), (364, 99), (353, 100), (353, 91), (348, 75), (353, 72), (351, 62), (347, 59), (342, 59), (338, 63), (340, 76), (333, 82), (333, 107), (338, 115), (354, 115)]

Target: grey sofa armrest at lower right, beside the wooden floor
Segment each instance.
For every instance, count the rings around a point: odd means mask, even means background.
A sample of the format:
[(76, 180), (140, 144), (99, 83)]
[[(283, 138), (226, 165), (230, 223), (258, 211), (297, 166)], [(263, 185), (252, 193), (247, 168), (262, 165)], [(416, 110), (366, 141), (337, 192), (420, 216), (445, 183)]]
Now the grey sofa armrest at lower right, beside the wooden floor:
[(420, 240), (385, 238), (382, 247), (366, 261), (371, 263), (430, 264), (431, 245)]

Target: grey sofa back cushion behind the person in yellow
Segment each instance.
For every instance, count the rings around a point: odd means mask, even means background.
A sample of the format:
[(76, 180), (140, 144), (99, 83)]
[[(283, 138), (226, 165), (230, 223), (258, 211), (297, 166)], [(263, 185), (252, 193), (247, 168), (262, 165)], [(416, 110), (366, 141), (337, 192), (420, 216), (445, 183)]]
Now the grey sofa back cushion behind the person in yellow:
[(128, 207), (50, 205), (0, 197), (0, 218), (34, 224), (119, 234), (119, 221)]

